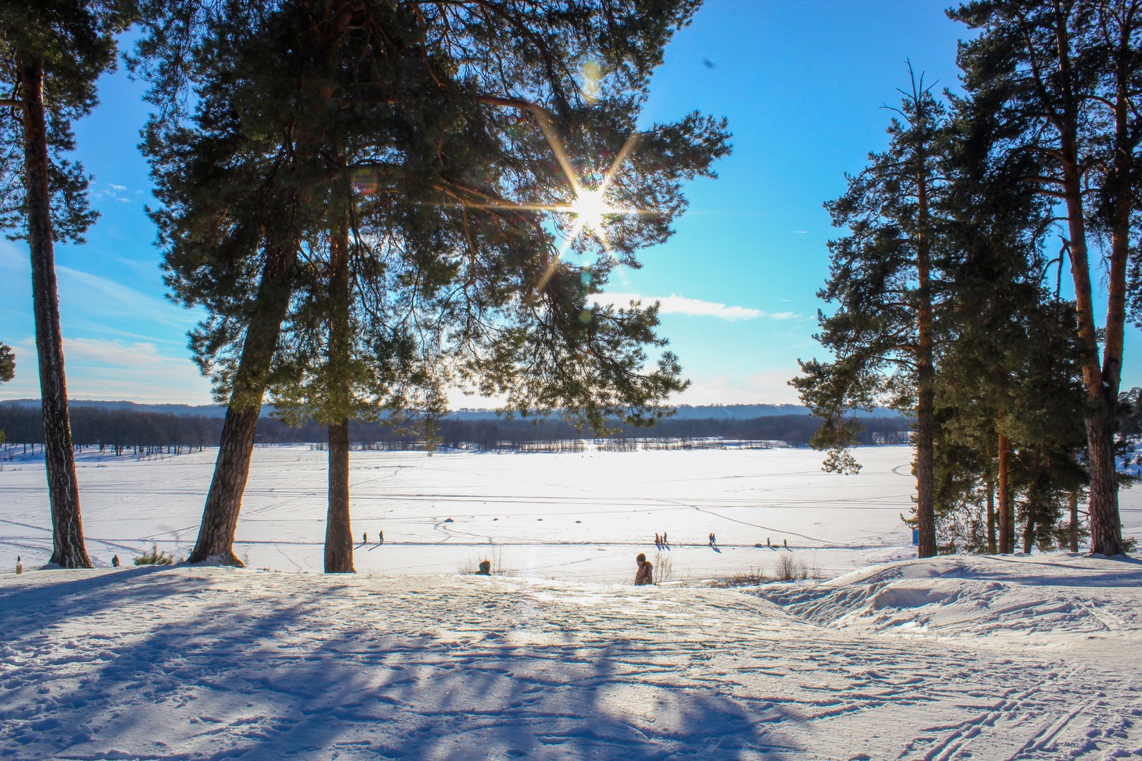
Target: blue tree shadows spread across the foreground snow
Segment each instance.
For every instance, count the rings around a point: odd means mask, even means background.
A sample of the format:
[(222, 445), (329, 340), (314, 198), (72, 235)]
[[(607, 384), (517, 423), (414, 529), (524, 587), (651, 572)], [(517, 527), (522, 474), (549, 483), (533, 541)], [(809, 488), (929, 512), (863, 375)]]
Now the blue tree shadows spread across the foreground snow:
[[(16, 675), (0, 755), (803, 754), (770, 732), (786, 720), (782, 708), (683, 678), (671, 663), (677, 652), (659, 652), (637, 622), (616, 628), (626, 612), (552, 602), (494, 579), (475, 592), (460, 587), (463, 598), (455, 588), (468, 579), (450, 582), (452, 593), (441, 582), (420, 593), (360, 577), (300, 577), (282, 582), (289, 594), (259, 595), (257, 585), (218, 569), (201, 579), (193, 569), (156, 570), (39, 585), (42, 614), (25, 614), (21, 627), (114, 626), (119, 611), (126, 622), (130, 608), (143, 610), (130, 611), (121, 638), (91, 643), (75, 634), (74, 649), (56, 648), (23, 667), (42, 674)], [(0, 606), (11, 599), (0, 596)], [(593, 626), (608, 615), (622, 618)], [(45, 711), (37, 690), (48, 681)], [(37, 700), (41, 710), (14, 716)]]

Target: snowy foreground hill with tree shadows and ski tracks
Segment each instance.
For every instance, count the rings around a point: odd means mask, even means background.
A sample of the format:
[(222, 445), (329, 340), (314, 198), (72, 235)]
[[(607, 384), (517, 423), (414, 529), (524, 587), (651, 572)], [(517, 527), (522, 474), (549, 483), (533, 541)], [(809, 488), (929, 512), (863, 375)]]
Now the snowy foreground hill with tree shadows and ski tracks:
[(1140, 584), (1065, 554), (740, 591), (7, 572), (0, 758), (1135, 758)]

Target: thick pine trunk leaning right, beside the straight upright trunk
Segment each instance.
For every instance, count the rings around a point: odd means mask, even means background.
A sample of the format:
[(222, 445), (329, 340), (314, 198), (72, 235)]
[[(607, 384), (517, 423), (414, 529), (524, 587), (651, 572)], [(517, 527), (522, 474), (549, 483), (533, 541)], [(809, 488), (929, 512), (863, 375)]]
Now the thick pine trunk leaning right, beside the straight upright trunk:
[(215, 560), (224, 566), (242, 566), (234, 554), (238, 514), (242, 492), (250, 474), (254, 440), (257, 435), (262, 398), (278, 349), (281, 323), (289, 309), (290, 282), (296, 263), (297, 242), (274, 248), (266, 257), (258, 285), (255, 312), (246, 330), (226, 419), (218, 443), (210, 491), (202, 511), (202, 523), (188, 562)]

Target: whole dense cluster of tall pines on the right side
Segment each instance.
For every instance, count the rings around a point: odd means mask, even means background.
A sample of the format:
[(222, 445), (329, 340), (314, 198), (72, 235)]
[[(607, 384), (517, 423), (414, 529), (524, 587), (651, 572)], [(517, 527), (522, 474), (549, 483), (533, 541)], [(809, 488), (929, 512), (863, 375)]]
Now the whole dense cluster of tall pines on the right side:
[[(853, 409), (916, 422), (919, 554), (1124, 550), (1124, 333), (1142, 325), (1142, 1), (973, 0), (947, 11), (963, 91), (912, 74), (888, 145), (827, 203), (818, 339), (793, 380), (814, 446), (853, 472)], [(1103, 265), (1105, 269), (1103, 269)], [(1064, 297), (1064, 270), (1072, 297)], [(1099, 303), (1100, 280), (1105, 299)], [(1096, 327), (1099, 319), (1102, 326)]]

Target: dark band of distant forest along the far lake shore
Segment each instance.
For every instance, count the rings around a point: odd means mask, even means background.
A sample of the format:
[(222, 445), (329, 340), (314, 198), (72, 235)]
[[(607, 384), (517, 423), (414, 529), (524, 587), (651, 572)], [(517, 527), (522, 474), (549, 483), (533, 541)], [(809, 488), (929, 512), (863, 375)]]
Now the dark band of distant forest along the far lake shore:
[[(859, 439), (863, 444), (907, 443), (909, 422), (903, 417), (869, 417), (861, 420)], [(98, 447), (116, 455), (201, 449), (218, 443), (223, 418), (204, 415), (172, 415), (170, 412), (137, 409), (107, 409), (73, 406), (71, 408), (72, 439), (77, 447)], [(636, 427), (611, 422), (619, 430), (608, 440), (619, 444), (635, 439), (673, 441), (685, 446), (693, 440), (734, 440), (748, 442), (783, 442), (807, 446), (821, 419), (811, 415), (771, 415), (749, 419), (732, 418), (666, 418), (651, 427)], [(418, 430), (419, 428), (419, 430)], [(9, 444), (43, 443), (43, 420), (39, 407), (0, 404), (0, 431)], [(258, 443), (325, 443), (328, 428), (314, 420), (291, 427), (273, 417), (258, 420)], [(349, 426), (351, 441), (359, 448), (425, 449), (428, 439), (423, 427), (394, 428), (384, 423), (354, 422)], [(439, 422), (435, 433), (437, 447), (461, 449), (564, 449), (562, 442), (592, 438), (589, 432), (577, 432), (561, 419), (453, 419)], [(626, 447), (616, 446), (617, 449)]]

